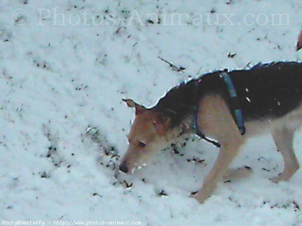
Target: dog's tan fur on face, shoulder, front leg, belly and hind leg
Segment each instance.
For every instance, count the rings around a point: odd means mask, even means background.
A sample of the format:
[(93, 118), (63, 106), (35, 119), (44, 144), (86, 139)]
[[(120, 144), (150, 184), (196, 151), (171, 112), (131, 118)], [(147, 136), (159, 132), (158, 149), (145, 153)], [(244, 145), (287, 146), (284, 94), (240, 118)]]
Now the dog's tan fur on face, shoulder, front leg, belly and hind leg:
[[(189, 128), (190, 122), (184, 122), (179, 127), (169, 130), (168, 119), (161, 119), (152, 110), (142, 109), (132, 100), (128, 100), (127, 104), (136, 107), (137, 114), (128, 135), (128, 150), (121, 164), (127, 165), (129, 171), (133, 172), (134, 169), (146, 164), (155, 153), (175, 141), (180, 131)], [(206, 137), (216, 140), (221, 147), (214, 166), (204, 179), (201, 190), (193, 197), (199, 202), (209, 197), (246, 139), (263, 133), (272, 133), (284, 159), (283, 172), (272, 181), (288, 180), (299, 168), (292, 148), (292, 139), (294, 130), (301, 124), (302, 106), (280, 119), (246, 122), (246, 134), (242, 136), (223, 98), (220, 95), (204, 96), (198, 107), (198, 129)], [(143, 142), (145, 146), (139, 147), (139, 142)]]

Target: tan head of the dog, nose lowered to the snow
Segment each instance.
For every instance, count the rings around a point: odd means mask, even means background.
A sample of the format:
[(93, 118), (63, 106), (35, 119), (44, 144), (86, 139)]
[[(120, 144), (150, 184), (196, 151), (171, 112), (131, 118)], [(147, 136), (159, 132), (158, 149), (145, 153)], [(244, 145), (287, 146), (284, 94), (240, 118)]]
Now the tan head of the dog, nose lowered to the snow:
[(128, 149), (119, 169), (124, 173), (133, 173), (169, 144), (167, 133), (171, 119), (131, 99), (123, 101), (135, 108), (135, 117), (127, 136)]

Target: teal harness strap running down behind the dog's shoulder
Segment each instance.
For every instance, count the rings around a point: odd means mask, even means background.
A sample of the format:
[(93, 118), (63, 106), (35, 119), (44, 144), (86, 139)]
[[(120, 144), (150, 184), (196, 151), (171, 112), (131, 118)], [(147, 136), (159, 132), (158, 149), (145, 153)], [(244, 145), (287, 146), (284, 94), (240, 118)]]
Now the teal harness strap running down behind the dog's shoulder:
[(243, 120), (243, 115), (240, 107), (240, 101), (237, 96), (236, 89), (234, 87), (234, 84), (232, 82), (232, 79), (230, 75), (226, 72), (222, 72), (220, 74), (220, 77), (223, 78), (226, 86), (228, 87), (228, 91), (231, 97), (231, 108), (234, 111), (234, 118), (235, 122), (241, 132), (241, 135), (245, 134), (245, 126), (244, 126), (244, 120)]

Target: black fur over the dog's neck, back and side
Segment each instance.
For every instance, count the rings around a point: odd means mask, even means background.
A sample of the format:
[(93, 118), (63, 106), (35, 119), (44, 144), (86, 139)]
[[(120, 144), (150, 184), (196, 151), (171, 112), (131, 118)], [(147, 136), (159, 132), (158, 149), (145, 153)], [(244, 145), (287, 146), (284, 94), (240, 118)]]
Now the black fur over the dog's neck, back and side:
[[(219, 76), (221, 72), (207, 73), (172, 88), (153, 109), (170, 117), (174, 127), (196, 114), (198, 101), (205, 95), (219, 94), (230, 106), (228, 89)], [(302, 101), (302, 63), (258, 64), (249, 70), (228, 73), (245, 121), (282, 117)]]

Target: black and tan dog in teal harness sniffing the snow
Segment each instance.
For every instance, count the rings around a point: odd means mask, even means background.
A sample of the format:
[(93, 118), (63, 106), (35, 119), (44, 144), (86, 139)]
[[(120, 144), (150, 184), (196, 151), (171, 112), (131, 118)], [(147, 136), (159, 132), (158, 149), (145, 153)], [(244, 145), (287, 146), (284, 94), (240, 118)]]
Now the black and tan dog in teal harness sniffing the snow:
[(271, 133), (283, 156), (284, 170), (271, 179), (286, 181), (298, 170), (292, 141), (302, 125), (302, 62), (257, 64), (250, 69), (217, 70), (172, 88), (153, 107), (124, 99), (135, 108), (128, 149), (119, 170), (133, 173), (182, 135), (198, 135), (219, 147), (199, 202), (215, 190), (219, 179), (245, 141)]

